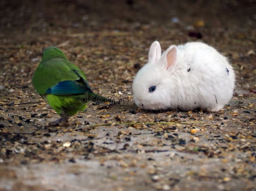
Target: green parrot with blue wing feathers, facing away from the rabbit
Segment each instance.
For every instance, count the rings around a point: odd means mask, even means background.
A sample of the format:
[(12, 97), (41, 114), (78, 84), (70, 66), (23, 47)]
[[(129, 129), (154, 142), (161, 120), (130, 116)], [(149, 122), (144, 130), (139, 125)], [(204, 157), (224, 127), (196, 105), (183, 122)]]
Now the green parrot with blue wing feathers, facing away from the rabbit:
[(44, 49), (32, 84), (46, 102), (61, 116), (52, 125), (68, 123), (68, 118), (84, 111), (89, 101), (111, 102), (92, 92), (83, 71), (72, 64), (57, 47)]

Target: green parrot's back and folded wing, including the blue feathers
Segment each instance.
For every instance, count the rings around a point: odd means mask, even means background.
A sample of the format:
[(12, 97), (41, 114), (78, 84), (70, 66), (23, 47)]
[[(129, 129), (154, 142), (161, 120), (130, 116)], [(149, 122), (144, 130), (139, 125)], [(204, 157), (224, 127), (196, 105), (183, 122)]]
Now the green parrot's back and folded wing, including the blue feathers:
[(53, 58), (40, 63), (33, 75), (32, 84), (41, 95), (74, 95), (92, 92), (84, 73), (62, 58)]

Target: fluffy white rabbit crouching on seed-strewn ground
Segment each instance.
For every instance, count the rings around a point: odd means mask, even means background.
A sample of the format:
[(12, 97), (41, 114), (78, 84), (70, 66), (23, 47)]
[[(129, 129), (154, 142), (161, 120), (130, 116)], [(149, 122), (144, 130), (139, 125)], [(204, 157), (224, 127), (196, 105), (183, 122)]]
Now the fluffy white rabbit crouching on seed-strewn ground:
[(235, 73), (227, 58), (201, 42), (172, 45), (161, 55), (155, 41), (148, 63), (132, 84), (135, 103), (142, 109), (202, 108), (212, 112), (228, 103), (234, 87)]

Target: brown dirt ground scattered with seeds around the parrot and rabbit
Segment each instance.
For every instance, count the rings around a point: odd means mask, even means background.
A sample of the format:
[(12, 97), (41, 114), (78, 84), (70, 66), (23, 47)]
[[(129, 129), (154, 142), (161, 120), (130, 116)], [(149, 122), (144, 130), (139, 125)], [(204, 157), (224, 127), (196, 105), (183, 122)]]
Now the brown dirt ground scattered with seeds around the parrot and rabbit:
[[(255, 1), (10, 0), (0, 9), (0, 190), (256, 190)], [(138, 109), (132, 80), (154, 40), (162, 51), (199, 40), (227, 56), (237, 75), (230, 104)], [(49, 126), (59, 115), (31, 84), (47, 46), (94, 92), (123, 102), (89, 104), (71, 128)]]

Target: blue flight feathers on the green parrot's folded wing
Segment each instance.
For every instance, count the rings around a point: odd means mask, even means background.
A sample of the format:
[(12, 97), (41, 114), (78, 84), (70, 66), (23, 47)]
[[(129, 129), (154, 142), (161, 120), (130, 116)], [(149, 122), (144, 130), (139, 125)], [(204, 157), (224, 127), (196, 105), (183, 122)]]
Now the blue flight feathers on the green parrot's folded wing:
[(76, 80), (66, 80), (59, 82), (46, 91), (46, 94), (54, 95), (68, 95), (68, 94), (82, 94), (85, 92), (92, 92), (86, 86), (77, 83)]

